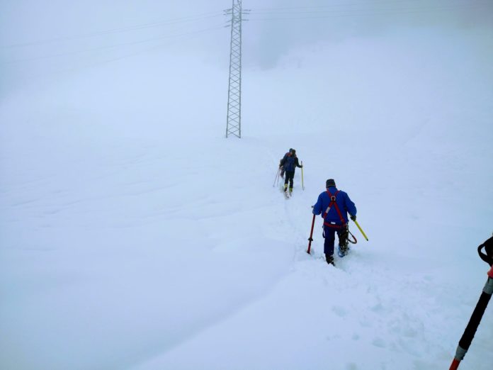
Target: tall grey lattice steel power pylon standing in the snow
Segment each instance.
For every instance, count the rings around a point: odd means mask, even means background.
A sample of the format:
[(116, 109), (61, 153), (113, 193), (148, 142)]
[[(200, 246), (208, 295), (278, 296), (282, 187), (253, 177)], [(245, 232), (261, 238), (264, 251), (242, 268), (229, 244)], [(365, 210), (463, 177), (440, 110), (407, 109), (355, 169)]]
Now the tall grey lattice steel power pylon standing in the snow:
[(231, 14), (231, 47), (229, 50), (229, 86), (227, 89), (226, 138), (242, 137), (242, 0), (232, 0), (225, 11)]

